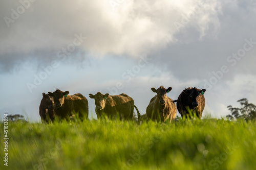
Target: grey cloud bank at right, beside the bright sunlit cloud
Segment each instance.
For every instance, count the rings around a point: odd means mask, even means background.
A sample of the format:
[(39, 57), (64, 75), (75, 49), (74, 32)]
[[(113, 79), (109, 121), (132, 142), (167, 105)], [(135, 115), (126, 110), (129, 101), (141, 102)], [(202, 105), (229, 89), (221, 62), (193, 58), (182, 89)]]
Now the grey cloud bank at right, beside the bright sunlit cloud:
[[(229, 72), (224, 74), (221, 81), (233, 79), (236, 74), (255, 75), (256, 6), (252, 3), (240, 4), (236, 1), (223, 3), (222, 11), (218, 14), (219, 30), (209, 28), (202, 38), (198, 29), (190, 26), (182, 28), (174, 34), (178, 42), (170, 42), (164, 50), (151, 54), (157, 58), (154, 63), (167, 65), (167, 70), (183, 81), (209, 79), (213, 76), (212, 71), (221, 70), (223, 65), (228, 66)], [(252, 39), (253, 47), (232, 65), (227, 58), (243, 49), (245, 39)]]

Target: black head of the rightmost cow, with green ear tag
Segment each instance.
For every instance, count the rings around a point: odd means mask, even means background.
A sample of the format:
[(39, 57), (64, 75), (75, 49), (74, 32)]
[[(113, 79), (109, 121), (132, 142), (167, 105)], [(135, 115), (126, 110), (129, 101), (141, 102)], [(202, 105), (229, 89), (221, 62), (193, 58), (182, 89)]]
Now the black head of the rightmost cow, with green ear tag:
[(203, 95), (205, 93), (205, 89), (198, 89), (196, 87), (194, 88), (186, 88), (185, 90), (183, 90), (183, 92), (186, 94), (186, 100), (187, 100), (187, 104), (188, 107), (190, 109), (194, 109), (198, 106), (198, 99), (200, 95)]

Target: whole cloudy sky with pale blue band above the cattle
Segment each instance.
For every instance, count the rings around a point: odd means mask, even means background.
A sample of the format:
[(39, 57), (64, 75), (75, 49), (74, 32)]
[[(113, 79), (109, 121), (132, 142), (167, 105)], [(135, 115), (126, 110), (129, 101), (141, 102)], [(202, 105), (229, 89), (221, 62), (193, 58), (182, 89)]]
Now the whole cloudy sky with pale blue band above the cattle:
[[(130, 95), (140, 113), (163, 85), (205, 88), (203, 117), (256, 104), (256, 1), (0, 2), (0, 115), (40, 122), (42, 93)], [(177, 112), (177, 115), (180, 114)]]

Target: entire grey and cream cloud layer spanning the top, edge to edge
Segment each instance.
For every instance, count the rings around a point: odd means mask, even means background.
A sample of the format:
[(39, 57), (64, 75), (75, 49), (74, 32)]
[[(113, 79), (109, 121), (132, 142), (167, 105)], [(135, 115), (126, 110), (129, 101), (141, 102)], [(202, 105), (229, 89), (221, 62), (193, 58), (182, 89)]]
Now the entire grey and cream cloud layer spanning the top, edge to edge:
[[(20, 5), (1, 2), (1, 16), (11, 17), (11, 9)], [(0, 21), (0, 69), (10, 71), (28, 60), (38, 67), (47, 65), (73, 42), (75, 34), (81, 34), (87, 39), (66, 63), (89, 62), (89, 55), (146, 54), (161, 71), (183, 81), (209, 79), (212, 71), (230, 64), (227, 57), (243, 47), (244, 39), (256, 41), (255, 8), (255, 3), (241, 1), (125, 1), (113, 11), (102, 1), (35, 1), (9, 28)], [(176, 22), (182, 24), (178, 30)], [(249, 51), (229, 67), (225, 79), (237, 73), (255, 74), (253, 54), (255, 50)]]

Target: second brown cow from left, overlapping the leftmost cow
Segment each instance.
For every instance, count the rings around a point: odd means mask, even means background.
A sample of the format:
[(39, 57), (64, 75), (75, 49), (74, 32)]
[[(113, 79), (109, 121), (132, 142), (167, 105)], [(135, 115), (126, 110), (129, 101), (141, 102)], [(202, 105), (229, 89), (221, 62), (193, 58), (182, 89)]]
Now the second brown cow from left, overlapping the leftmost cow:
[(75, 113), (79, 118), (88, 118), (89, 108), (88, 100), (80, 93), (68, 95), (69, 91), (61, 91), (57, 89), (54, 92), (48, 92), (49, 96), (54, 100), (54, 112), (60, 119), (69, 120)]

